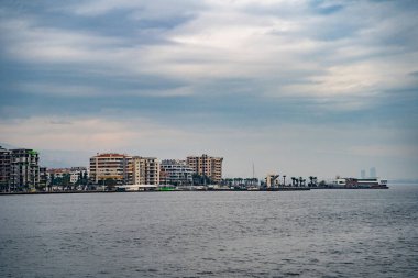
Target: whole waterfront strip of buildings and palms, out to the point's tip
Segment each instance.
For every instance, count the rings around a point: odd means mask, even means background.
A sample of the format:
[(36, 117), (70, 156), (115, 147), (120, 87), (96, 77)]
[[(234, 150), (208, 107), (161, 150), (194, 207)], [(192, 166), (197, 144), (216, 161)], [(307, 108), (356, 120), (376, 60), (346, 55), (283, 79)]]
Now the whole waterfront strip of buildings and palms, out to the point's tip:
[[(286, 175), (267, 175), (265, 181), (256, 178), (222, 179), (222, 157), (188, 156), (186, 159), (164, 159), (103, 153), (90, 157), (89, 167), (51, 168), (40, 167), (40, 154), (34, 149), (6, 149), (0, 146), (0, 191), (62, 191), (94, 190), (98, 187), (135, 187), (162, 189), (168, 187), (197, 186), (220, 189), (277, 189), (277, 188), (387, 188), (387, 180), (376, 177), (374, 167), (370, 177), (340, 178), (332, 182), (318, 182)], [(207, 186), (207, 187), (205, 187)]]

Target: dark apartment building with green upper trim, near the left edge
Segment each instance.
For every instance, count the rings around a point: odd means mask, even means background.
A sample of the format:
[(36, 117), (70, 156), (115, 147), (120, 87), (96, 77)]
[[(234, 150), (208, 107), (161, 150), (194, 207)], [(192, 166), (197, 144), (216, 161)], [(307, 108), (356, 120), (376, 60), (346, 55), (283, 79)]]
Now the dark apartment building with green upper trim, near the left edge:
[(40, 184), (40, 156), (36, 151), (11, 149), (11, 187), (13, 190), (31, 190)]

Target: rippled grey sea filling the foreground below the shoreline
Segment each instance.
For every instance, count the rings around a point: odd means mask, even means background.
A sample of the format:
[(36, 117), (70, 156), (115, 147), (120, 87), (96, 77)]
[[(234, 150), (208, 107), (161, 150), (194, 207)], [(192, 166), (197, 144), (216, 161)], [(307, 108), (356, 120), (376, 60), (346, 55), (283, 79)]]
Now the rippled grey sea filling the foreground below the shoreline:
[(0, 196), (0, 277), (418, 277), (418, 185)]

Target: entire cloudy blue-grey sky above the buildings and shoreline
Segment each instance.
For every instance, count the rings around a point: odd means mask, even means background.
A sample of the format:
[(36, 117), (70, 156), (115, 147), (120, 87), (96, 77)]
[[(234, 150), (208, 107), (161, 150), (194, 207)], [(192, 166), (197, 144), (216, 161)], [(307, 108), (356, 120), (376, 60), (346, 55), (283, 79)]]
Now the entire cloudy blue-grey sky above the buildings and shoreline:
[(0, 3), (0, 145), (418, 177), (415, 0)]

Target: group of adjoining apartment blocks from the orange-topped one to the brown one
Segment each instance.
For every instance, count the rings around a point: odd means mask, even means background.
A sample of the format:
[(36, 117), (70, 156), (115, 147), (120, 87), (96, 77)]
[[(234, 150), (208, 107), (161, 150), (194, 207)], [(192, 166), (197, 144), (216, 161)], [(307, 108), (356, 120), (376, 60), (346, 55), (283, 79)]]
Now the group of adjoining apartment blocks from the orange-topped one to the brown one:
[(155, 157), (97, 154), (90, 158), (89, 177), (97, 185), (111, 181), (114, 185), (187, 186), (194, 182), (194, 175), (220, 182), (222, 162), (222, 157), (208, 155), (158, 162)]

